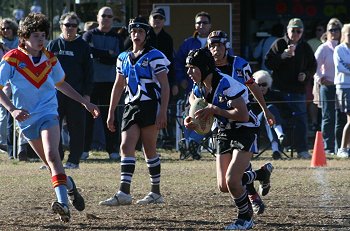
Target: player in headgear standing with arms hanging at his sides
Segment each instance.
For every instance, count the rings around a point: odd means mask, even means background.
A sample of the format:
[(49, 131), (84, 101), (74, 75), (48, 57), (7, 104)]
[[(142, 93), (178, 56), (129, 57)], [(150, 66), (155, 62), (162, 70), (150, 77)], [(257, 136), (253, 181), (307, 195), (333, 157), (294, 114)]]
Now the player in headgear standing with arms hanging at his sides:
[(126, 89), (125, 108), (122, 119), (120, 146), (121, 172), (119, 190), (100, 205), (119, 206), (132, 203), (130, 186), (135, 170), (135, 149), (141, 139), (143, 152), (150, 174), (151, 192), (137, 204), (163, 203), (160, 193), (161, 163), (157, 154), (159, 129), (167, 125), (169, 83), (167, 78), (169, 60), (148, 43), (151, 27), (141, 17), (131, 19), (128, 27), (132, 47), (121, 53), (117, 60), (117, 77), (114, 82), (108, 111), (107, 126), (115, 132), (114, 110)]

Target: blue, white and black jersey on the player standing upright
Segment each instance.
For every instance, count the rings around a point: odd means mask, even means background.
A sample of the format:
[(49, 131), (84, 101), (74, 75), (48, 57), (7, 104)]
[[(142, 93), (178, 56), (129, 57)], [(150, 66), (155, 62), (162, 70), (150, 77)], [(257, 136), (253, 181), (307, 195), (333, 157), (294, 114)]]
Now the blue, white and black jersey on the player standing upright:
[(161, 87), (156, 74), (166, 71), (170, 64), (166, 56), (157, 49), (151, 49), (143, 54), (135, 64), (130, 57), (131, 52), (125, 51), (118, 56), (117, 72), (124, 76), (127, 82), (125, 104), (135, 101), (160, 100)]

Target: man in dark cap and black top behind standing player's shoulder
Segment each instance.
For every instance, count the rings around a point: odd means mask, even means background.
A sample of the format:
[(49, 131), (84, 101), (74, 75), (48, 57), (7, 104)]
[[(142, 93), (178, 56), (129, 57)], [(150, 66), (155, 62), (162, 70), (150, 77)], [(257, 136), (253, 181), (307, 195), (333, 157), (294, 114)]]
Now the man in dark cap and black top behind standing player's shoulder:
[[(175, 71), (174, 71), (174, 42), (173, 38), (170, 34), (168, 34), (164, 30), (164, 23), (166, 21), (165, 12), (163, 8), (156, 7), (152, 10), (151, 14), (149, 15), (148, 22), (149, 25), (152, 27), (152, 30), (150, 30), (149, 33), (149, 44), (160, 50), (167, 59), (170, 61), (170, 65), (168, 66), (169, 73), (168, 73), (168, 81), (170, 85), (170, 89), (173, 88), (175, 85)], [(176, 97), (174, 94), (176, 92), (170, 93), (170, 100), (169, 100), (169, 109), (170, 114), (175, 115), (176, 113)], [(168, 128), (164, 129), (162, 131), (163, 133), (163, 144), (169, 144), (170, 141), (174, 138), (174, 134), (172, 132), (173, 127), (175, 127), (175, 117), (169, 116), (168, 118)]]

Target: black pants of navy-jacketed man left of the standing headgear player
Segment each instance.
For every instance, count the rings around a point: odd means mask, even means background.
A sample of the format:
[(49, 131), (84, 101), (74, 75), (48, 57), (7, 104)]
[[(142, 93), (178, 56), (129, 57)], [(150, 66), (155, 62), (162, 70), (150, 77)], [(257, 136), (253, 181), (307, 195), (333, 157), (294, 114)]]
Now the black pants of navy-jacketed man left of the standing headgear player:
[[(105, 134), (105, 141), (106, 141), (106, 151), (108, 154), (111, 154), (113, 152), (119, 153), (119, 146), (120, 146), (120, 121), (121, 121), (121, 115), (118, 113), (118, 111), (123, 111), (122, 108), (117, 107), (115, 110), (115, 126), (117, 128), (116, 132), (111, 132), (107, 128), (107, 116), (108, 116), (108, 109), (109, 109), (109, 102), (111, 98), (111, 92), (113, 88), (113, 83), (95, 83), (94, 84), (94, 90), (91, 94), (91, 103), (96, 104), (101, 112), (101, 119), (102, 119), (102, 126), (104, 129)], [(123, 99), (120, 101), (122, 102)], [(85, 127), (85, 145), (84, 145), (84, 151), (88, 152), (91, 149), (91, 143), (92, 143), (92, 137), (93, 137), (93, 126), (94, 126), (94, 119), (92, 118), (91, 114), (88, 113), (86, 116), (86, 127)]]

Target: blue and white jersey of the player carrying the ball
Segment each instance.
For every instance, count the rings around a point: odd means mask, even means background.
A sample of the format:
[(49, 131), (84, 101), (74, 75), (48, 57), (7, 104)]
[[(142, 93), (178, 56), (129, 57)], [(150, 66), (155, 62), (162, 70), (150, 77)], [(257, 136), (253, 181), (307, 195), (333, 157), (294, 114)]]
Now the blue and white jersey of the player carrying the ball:
[[(214, 80), (214, 78), (219, 78), (219, 79)], [(219, 127), (225, 128), (225, 129), (239, 128), (241, 126), (259, 127), (260, 122), (249, 106), (250, 101), (248, 99), (247, 87), (241, 84), (240, 82), (234, 80), (231, 76), (223, 74), (221, 72), (218, 72), (217, 75), (213, 76), (213, 82), (215, 81), (218, 81), (218, 84), (217, 86), (214, 86), (214, 85), (212, 86), (214, 94), (213, 94), (211, 103), (213, 105), (218, 106), (219, 108), (224, 110), (229, 110), (229, 109), (232, 109), (230, 105), (230, 100), (237, 99), (238, 97), (242, 97), (244, 102), (247, 105), (248, 113), (249, 113), (248, 122), (233, 121), (226, 117), (215, 115), (215, 117), (218, 120)], [(203, 94), (205, 94), (204, 87), (200, 88), (197, 84), (193, 85), (192, 91), (193, 91), (193, 94), (198, 98), (203, 98)]]

